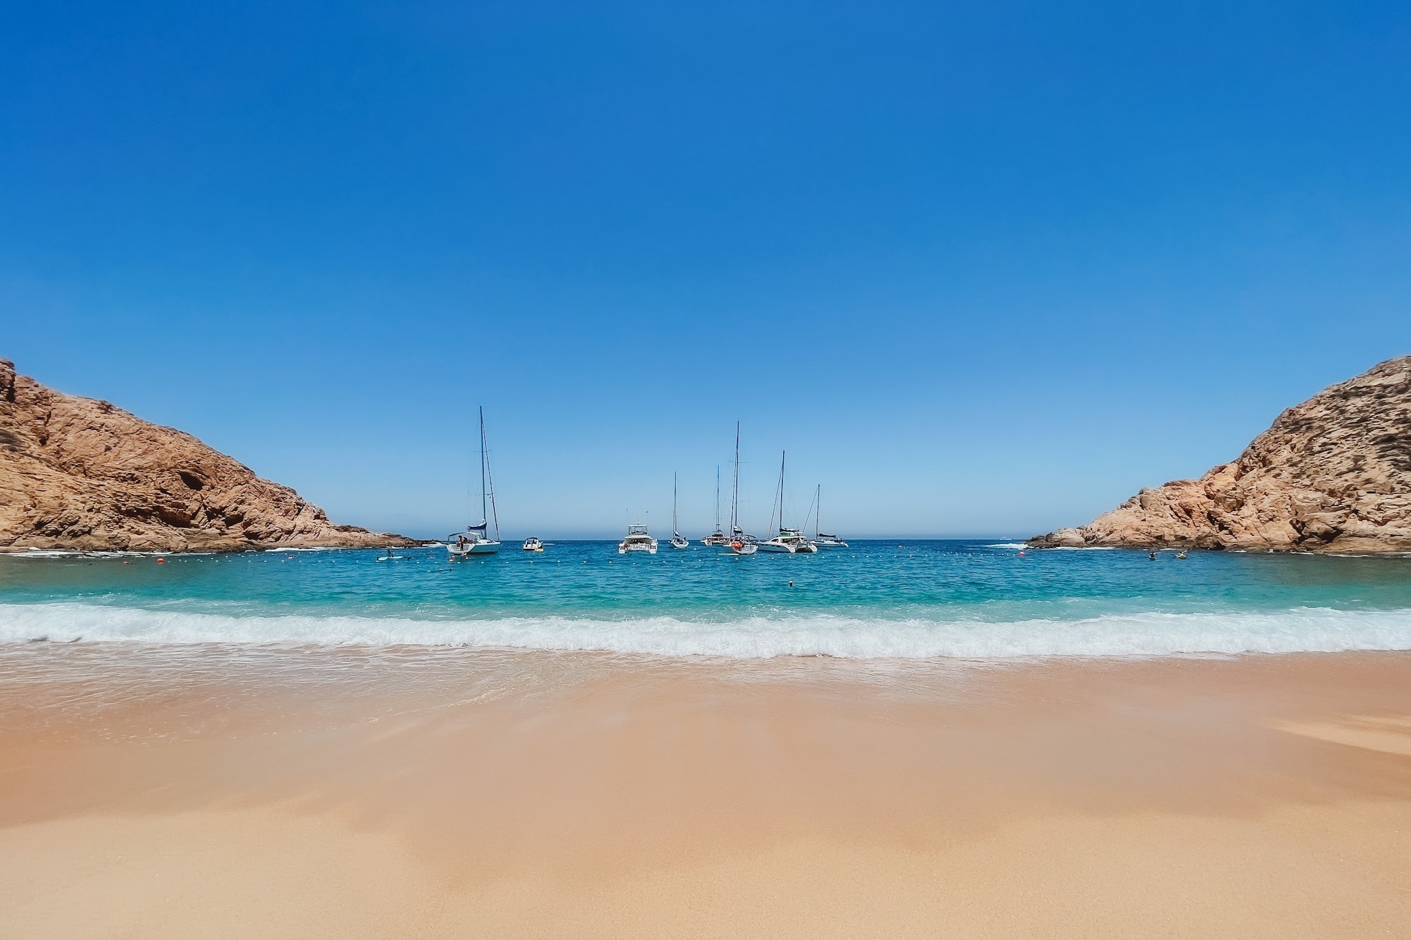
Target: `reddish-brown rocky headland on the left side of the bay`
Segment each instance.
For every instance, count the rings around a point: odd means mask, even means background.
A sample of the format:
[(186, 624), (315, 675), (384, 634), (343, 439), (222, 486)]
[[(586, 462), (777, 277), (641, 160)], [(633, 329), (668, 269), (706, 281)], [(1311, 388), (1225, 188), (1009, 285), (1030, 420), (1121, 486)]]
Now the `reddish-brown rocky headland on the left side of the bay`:
[(406, 544), (334, 526), (190, 434), (54, 392), (0, 359), (0, 551)]

